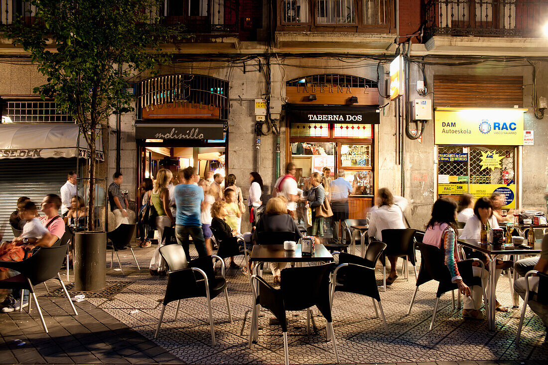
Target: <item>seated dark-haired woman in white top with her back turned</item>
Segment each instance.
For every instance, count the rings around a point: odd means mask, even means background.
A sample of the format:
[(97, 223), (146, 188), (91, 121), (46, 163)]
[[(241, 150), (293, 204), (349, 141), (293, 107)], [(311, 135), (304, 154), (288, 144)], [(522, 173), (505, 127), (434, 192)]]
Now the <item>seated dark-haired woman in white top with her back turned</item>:
[[(369, 218), (369, 237), (383, 240), (383, 229), (404, 229), (403, 214), (399, 206), (394, 204), (394, 196), (387, 188), (380, 188), (378, 194), (379, 208), (371, 213)], [(396, 273), (397, 257), (389, 256), (390, 276), (386, 278), (386, 285), (391, 285), (398, 277)]]

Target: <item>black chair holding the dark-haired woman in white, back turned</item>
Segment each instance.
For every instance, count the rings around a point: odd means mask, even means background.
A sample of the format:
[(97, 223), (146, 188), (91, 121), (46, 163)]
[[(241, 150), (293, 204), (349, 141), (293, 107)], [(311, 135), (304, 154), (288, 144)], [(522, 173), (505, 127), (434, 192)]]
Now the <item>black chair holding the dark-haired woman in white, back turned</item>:
[(407, 262), (410, 261), (415, 271), (416, 279), (416, 257), (415, 257), (415, 232), (413, 228), (383, 229), (383, 242), (386, 249), (381, 254), (383, 264), (383, 288), (386, 291), (386, 256), (403, 257), (402, 272), (407, 279)]

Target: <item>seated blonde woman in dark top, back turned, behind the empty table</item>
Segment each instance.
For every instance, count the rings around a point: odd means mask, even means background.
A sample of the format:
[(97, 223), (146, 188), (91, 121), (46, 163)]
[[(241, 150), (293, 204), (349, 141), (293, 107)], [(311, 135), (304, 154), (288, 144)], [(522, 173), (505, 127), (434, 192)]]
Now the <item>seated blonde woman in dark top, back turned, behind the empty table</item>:
[[(261, 216), (255, 232), (253, 233), (253, 240), (259, 243), (258, 233), (260, 232), (293, 232), (295, 235), (293, 240), (297, 242), (302, 234), (297, 227), (297, 224), (287, 214), (287, 205), (280, 198), (272, 198), (266, 203), (265, 214)], [(286, 267), (285, 262), (271, 262), (270, 268), (272, 269), (272, 275), (274, 276), (274, 282), (279, 284), (280, 271)]]

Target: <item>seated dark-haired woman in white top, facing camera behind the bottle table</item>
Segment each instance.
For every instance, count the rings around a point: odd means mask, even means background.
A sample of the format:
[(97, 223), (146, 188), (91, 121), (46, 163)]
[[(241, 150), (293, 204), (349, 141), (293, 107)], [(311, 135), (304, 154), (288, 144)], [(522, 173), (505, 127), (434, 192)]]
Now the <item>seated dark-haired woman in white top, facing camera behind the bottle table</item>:
[[(486, 231), (489, 232), (490, 228), (499, 228), (499, 223), (496, 221), (496, 217), (493, 215), (493, 203), (483, 196), (476, 200), (474, 205), (474, 215), (466, 221), (463, 232), (460, 234), (459, 239), (473, 239), (479, 240), (479, 235), (482, 229), (482, 226), (486, 227)], [(466, 250), (465, 250), (466, 251)], [(484, 254), (480, 254), (478, 251), (467, 250), (467, 256), (475, 257), (476, 259), (482, 260), (486, 263), (487, 267), (487, 257)], [(495, 271), (495, 287), (496, 283), (499, 282), (500, 274), (503, 272), (503, 269), (507, 269), (512, 266), (512, 261), (502, 261), (497, 260), (496, 262), (496, 271)], [(495, 310), (500, 312), (507, 312), (507, 308), (500, 305), (497, 301), (495, 304)]]

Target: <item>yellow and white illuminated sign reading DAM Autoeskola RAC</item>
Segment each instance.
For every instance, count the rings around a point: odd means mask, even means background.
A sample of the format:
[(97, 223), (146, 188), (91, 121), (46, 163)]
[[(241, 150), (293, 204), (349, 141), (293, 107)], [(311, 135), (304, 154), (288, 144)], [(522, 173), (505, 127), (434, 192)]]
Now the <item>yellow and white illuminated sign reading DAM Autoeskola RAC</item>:
[(436, 108), (435, 144), (523, 145), (527, 109)]

